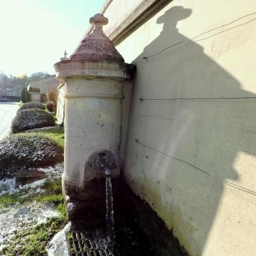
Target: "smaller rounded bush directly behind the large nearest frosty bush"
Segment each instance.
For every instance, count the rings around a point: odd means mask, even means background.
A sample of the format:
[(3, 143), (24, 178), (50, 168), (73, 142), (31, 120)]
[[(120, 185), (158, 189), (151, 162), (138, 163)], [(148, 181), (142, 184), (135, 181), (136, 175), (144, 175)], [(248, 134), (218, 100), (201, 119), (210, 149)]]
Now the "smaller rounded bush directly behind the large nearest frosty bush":
[(42, 109), (20, 110), (12, 121), (12, 132), (17, 133), (54, 124), (54, 117)]

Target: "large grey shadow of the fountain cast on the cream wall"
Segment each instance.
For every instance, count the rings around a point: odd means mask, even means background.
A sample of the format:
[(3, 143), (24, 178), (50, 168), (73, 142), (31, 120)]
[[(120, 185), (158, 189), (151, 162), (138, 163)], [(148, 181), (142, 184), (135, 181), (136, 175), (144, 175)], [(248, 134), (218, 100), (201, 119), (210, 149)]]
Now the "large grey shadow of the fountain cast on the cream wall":
[[(220, 204), (224, 194), (232, 205), (226, 213), (232, 219), (237, 211), (243, 221), (239, 207), (250, 190), (239, 184), (239, 177), (250, 171), (241, 164), (237, 173), (234, 165), (240, 152), (256, 155), (256, 99), (202, 46), (179, 33), (177, 22), (189, 15), (191, 10), (182, 6), (167, 10), (157, 19), (163, 31), (132, 62), (138, 72), (125, 177), (188, 252), (202, 255), (214, 218), (225, 207)], [(218, 225), (228, 229), (235, 224), (227, 219)]]

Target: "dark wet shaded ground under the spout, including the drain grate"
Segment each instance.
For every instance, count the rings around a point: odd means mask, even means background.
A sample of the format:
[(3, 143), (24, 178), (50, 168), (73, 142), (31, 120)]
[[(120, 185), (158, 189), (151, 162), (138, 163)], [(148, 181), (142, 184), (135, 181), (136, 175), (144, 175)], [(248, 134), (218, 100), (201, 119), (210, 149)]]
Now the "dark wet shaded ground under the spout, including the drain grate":
[[(98, 186), (102, 186), (104, 193), (104, 182)], [(73, 204), (70, 232), (67, 233), (69, 255), (187, 255), (156, 212), (134, 195), (122, 180), (113, 180), (113, 194), (115, 214), (113, 243), (109, 241), (106, 232), (106, 205), (103, 198), (84, 204), (74, 201), (69, 203), (69, 206)], [(81, 251), (83, 253), (80, 253)]]

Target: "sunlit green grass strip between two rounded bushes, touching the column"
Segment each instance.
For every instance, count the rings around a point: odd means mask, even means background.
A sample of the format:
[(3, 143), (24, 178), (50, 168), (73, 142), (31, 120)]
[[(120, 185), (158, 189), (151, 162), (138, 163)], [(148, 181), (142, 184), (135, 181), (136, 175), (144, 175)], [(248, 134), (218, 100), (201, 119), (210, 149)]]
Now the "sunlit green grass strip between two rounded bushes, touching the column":
[(60, 145), (62, 149), (64, 148), (64, 130), (61, 129), (59, 126), (52, 127), (51, 129), (41, 129), (37, 131), (31, 130), (27, 131), (26, 133), (46, 136), (54, 140), (58, 145)]

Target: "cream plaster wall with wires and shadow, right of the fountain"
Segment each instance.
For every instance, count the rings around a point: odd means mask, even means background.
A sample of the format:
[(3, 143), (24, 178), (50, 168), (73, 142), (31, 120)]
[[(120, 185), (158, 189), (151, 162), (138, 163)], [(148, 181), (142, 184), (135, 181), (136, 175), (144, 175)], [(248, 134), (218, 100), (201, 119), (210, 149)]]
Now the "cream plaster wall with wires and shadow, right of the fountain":
[(256, 99), (212, 99), (256, 97), (253, 12), (173, 0), (117, 46), (137, 67), (125, 177), (193, 256), (256, 252)]

